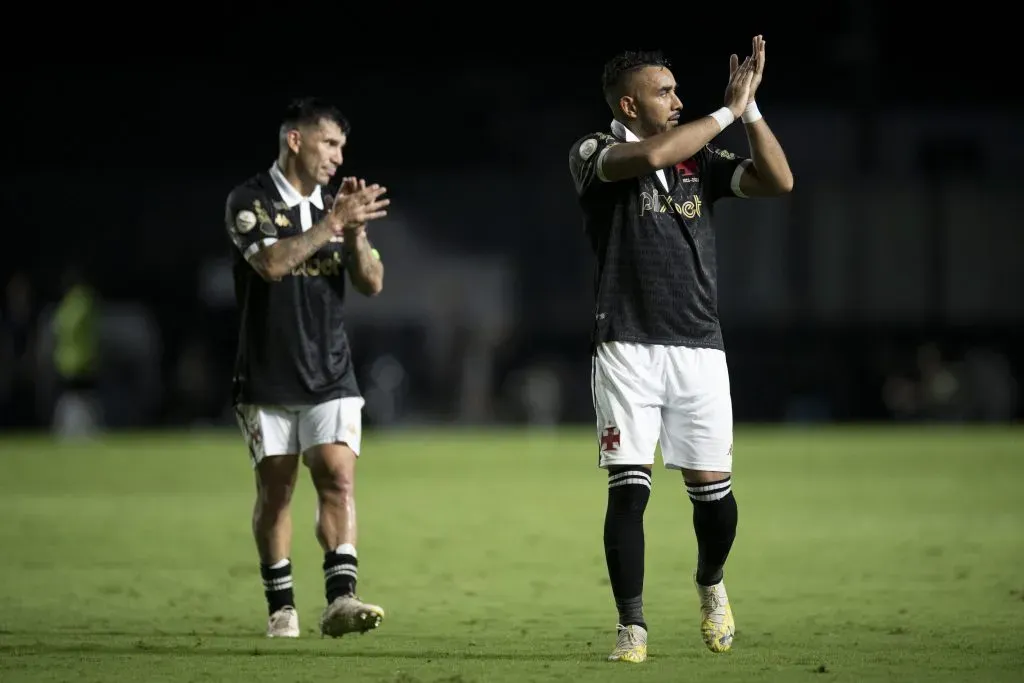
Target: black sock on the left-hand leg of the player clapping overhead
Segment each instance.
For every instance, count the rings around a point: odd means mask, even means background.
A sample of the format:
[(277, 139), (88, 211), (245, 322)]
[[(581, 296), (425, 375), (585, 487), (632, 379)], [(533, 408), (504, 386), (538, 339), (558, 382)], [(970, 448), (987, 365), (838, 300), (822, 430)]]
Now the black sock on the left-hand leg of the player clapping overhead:
[(642, 467), (608, 469), (604, 559), (618, 623), (647, 628), (643, 616), (643, 513), (650, 500), (650, 472)]

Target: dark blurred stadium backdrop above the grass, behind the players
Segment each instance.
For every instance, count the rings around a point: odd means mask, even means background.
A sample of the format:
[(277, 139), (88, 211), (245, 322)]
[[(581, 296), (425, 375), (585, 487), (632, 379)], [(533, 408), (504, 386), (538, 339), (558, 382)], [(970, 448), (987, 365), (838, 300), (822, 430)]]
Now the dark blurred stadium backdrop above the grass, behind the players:
[[(71, 267), (99, 297), (104, 424), (230, 422), (224, 200), (304, 94), (352, 123), (341, 173), (393, 203), (384, 293), (349, 309), (368, 421), (590, 421), (567, 153), (610, 120), (601, 67), (664, 49), (699, 117), (756, 33), (796, 188), (718, 206), (736, 419), (1019, 420), (1021, 53), (992, 7), (923, 7), (27, 10), (4, 48), (0, 422), (53, 422)], [(740, 125), (718, 141), (746, 151)]]

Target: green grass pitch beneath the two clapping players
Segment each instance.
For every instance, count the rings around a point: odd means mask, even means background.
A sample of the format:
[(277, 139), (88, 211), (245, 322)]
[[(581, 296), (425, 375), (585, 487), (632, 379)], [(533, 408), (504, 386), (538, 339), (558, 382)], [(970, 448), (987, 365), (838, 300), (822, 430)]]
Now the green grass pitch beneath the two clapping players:
[(1021, 681), (1024, 430), (741, 428), (732, 652), (703, 649), (690, 504), (656, 469), (650, 658), (608, 664), (605, 482), (587, 430), (368, 433), (359, 593), (380, 630), (262, 638), (233, 432), (0, 440), (0, 681)]

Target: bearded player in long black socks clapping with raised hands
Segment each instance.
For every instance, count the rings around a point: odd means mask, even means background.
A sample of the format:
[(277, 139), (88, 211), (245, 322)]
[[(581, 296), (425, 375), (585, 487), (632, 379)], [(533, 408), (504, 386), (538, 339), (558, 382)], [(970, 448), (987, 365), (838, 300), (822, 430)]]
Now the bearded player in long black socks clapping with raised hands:
[[(730, 649), (735, 623), (724, 566), (736, 535), (732, 399), (718, 316), (713, 208), (725, 198), (793, 188), (785, 155), (755, 103), (765, 42), (729, 59), (725, 106), (689, 123), (658, 52), (624, 52), (604, 68), (613, 120), (586, 135), (569, 170), (596, 257), (592, 377), (598, 466), (608, 473), (604, 549), (618, 611), (615, 661), (647, 657), (643, 515), (655, 447), (680, 470), (697, 543), (700, 631)], [(712, 140), (741, 119), (750, 156)]]

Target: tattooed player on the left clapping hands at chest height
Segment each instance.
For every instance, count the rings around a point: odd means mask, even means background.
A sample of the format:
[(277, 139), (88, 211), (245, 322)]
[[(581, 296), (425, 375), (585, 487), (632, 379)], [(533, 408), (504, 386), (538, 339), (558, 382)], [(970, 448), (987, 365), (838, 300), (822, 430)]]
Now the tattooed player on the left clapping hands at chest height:
[(290, 512), (300, 455), (317, 495), (327, 598), (321, 633), (361, 633), (384, 617), (383, 608), (355, 595), (355, 462), (365, 400), (342, 306), (346, 273), (367, 296), (383, 287), (367, 223), (386, 215), (389, 200), (384, 187), (354, 178), (343, 180), (337, 199), (324, 194), (348, 135), (333, 105), (293, 102), (279, 131), (278, 159), (236, 186), (225, 208), (241, 312), (233, 404), (256, 474), (253, 535), (270, 638), (300, 633)]

